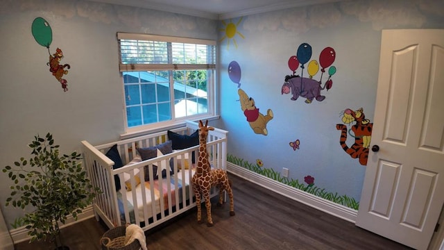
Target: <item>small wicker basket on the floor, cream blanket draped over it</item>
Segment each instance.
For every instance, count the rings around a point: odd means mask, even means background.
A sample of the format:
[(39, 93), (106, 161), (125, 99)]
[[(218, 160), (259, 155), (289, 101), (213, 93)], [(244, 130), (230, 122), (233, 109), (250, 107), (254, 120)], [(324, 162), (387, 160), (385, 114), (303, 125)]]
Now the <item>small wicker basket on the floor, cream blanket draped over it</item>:
[(138, 240), (125, 246), (125, 232), (126, 226), (117, 226), (106, 231), (100, 240), (102, 250), (139, 250)]

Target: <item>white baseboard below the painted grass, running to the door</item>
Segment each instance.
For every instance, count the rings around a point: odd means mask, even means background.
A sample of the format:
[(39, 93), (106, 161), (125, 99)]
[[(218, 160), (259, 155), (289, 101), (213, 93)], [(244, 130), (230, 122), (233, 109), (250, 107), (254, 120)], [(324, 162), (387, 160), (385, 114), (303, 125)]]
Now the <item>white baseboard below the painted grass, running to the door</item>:
[(289, 197), (290, 199), (299, 201), (300, 203), (304, 203), (307, 206), (311, 206), (312, 208), (316, 208), (330, 215), (345, 219), (348, 222), (356, 222), (356, 217), (358, 213), (357, 210), (353, 210), (338, 203), (316, 197), (313, 194), (309, 194), (307, 192), (298, 190), (297, 188), (285, 185), (284, 183), (274, 181), (271, 178), (262, 176), (261, 174), (257, 174), (248, 169), (245, 169), (244, 167), (239, 167), (238, 165), (232, 163), (227, 163), (227, 170), (231, 174), (235, 174), (241, 178), (245, 178), (248, 181), (252, 181), (257, 185), (267, 188), (268, 190), (272, 190), (273, 192), (282, 194), (285, 197)]

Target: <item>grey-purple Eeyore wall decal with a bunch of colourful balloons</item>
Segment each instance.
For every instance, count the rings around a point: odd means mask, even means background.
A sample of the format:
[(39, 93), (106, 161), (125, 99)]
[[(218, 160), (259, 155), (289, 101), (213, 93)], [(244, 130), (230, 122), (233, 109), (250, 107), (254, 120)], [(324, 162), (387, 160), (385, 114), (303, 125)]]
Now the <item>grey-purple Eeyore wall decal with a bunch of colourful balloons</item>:
[[(290, 56), (288, 65), (292, 74), (284, 78), (284, 85), (282, 85), (282, 94), (291, 93), (292, 101), (296, 101), (299, 97), (305, 97), (305, 103), (311, 103), (314, 99), (316, 101), (323, 101), (325, 96), (321, 95), (321, 90), (330, 90), (333, 85), (332, 76), (336, 74), (336, 67), (332, 66), (336, 59), (336, 51), (332, 47), (325, 47), (319, 54), (319, 60), (310, 60), (312, 49), (310, 44), (302, 43), (298, 47), (296, 56)], [(303, 77), (305, 64), (307, 64), (307, 73), (309, 77)], [(296, 70), (300, 66), (300, 76), (296, 74)], [(328, 68), (328, 79), (324, 84), (322, 81), (323, 73)], [(321, 69), (321, 77), (319, 81), (314, 79)], [(294, 144), (294, 143), (293, 143)]]

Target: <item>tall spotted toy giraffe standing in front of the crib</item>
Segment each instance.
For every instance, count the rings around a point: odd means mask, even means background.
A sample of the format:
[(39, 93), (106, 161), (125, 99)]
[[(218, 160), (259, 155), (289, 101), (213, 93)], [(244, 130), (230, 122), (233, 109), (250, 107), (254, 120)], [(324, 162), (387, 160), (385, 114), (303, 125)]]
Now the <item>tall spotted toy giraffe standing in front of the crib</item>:
[(228, 196), (230, 197), (230, 216), (234, 216), (234, 203), (231, 183), (228, 180), (227, 172), (223, 169), (211, 169), (208, 161), (207, 135), (208, 131), (212, 131), (214, 128), (207, 126), (207, 124), (208, 121), (205, 122), (205, 126), (202, 121), (199, 121), (199, 158), (196, 173), (194, 173), (191, 182), (193, 183), (194, 195), (196, 196), (197, 221), (198, 223), (202, 222), (202, 208), (200, 206), (200, 193), (202, 193), (207, 208), (207, 226), (213, 226), (210, 201), (210, 190), (212, 186), (217, 185), (219, 187), (219, 203), (217, 203), (217, 206), (222, 206), (223, 191), (228, 192)]

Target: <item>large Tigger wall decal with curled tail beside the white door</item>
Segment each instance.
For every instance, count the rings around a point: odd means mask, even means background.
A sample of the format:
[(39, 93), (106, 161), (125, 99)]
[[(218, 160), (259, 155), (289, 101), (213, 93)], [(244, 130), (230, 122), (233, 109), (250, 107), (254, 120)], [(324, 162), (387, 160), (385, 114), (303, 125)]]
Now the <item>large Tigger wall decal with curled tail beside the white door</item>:
[[(355, 111), (350, 110), (350, 108), (344, 110), (342, 122), (344, 124), (336, 124), (336, 129), (341, 131), (341, 138), (339, 139), (341, 147), (345, 153), (348, 153), (352, 158), (358, 158), (359, 163), (366, 166), (373, 123), (371, 123), (369, 119), (366, 119), (362, 108)], [(351, 124), (352, 122), (356, 123), (348, 130), (345, 124)], [(350, 130), (353, 134), (350, 133)], [(355, 138), (355, 143), (351, 147), (348, 147), (346, 144), (347, 133), (350, 133), (350, 135)]]

